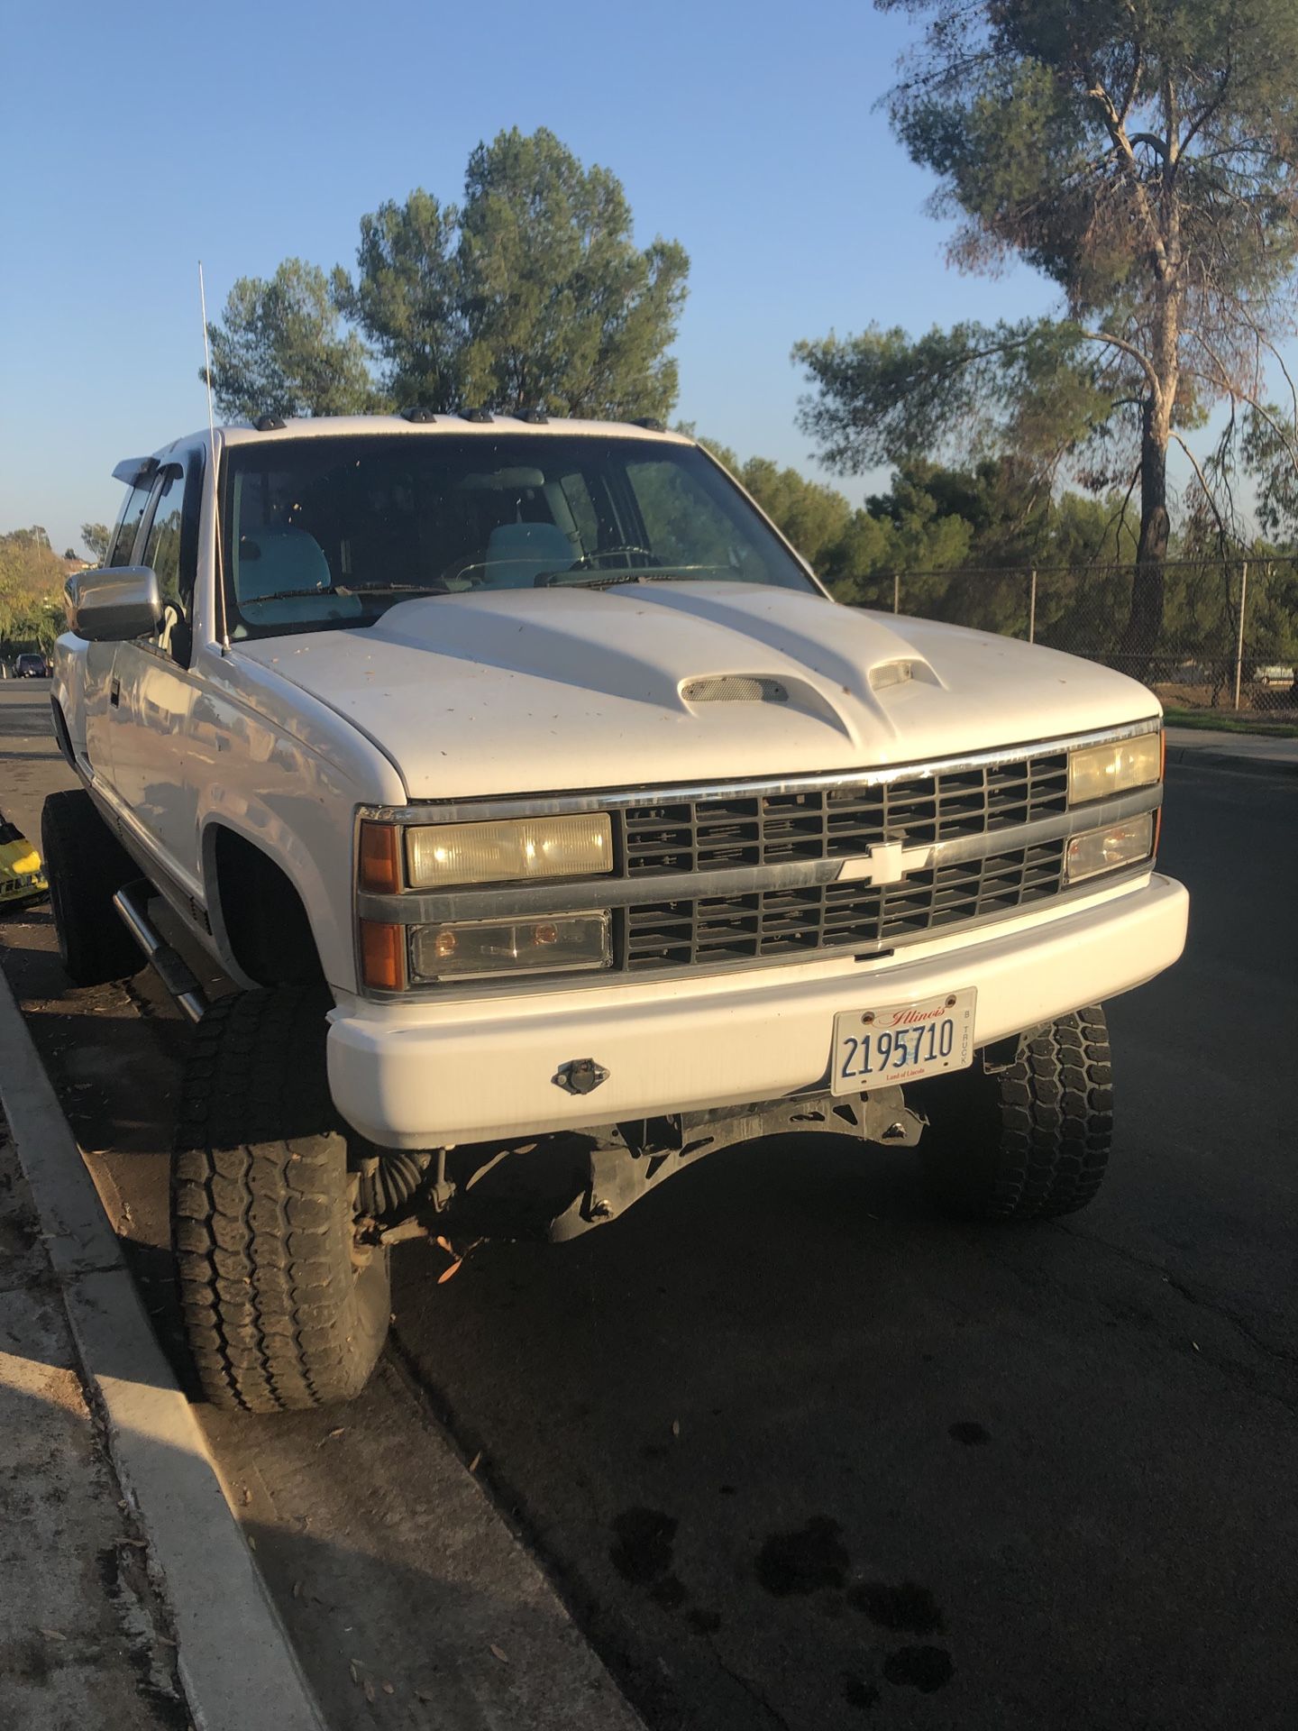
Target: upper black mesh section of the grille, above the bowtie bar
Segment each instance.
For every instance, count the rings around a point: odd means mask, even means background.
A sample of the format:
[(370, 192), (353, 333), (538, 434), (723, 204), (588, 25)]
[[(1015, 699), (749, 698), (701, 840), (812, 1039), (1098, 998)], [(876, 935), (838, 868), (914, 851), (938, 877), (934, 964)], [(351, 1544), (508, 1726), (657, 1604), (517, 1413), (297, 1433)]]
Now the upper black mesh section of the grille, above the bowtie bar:
[(909, 775), (879, 786), (654, 800), (621, 812), (627, 878), (826, 860), (884, 841), (993, 834), (1068, 808), (1068, 755)]

